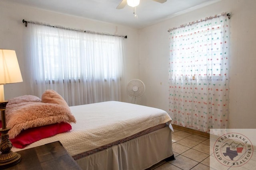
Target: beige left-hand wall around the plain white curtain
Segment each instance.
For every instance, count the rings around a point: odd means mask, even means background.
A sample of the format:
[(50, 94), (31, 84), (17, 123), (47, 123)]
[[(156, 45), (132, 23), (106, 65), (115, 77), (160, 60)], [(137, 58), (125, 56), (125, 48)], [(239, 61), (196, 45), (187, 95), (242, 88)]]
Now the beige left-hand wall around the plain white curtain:
[[(68, 16), (64, 14), (57, 14), (54, 12), (39, 10), (18, 4), (12, 4), (7, 1), (0, 1), (0, 49), (13, 49), (16, 51), (20, 69), (22, 72), (22, 83), (6, 84), (4, 86), (5, 99), (15, 96), (29, 94), (29, 86), (25, 85), (27, 68), (24, 63), (23, 48), (25, 39), (23, 37), (23, 30), (26, 29), (22, 20), (39, 21), (49, 23), (51, 25), (61, 25), (64, 27), (90, 30), (102, 33), (110, 33), (117, 35), (127, 35), (128, 38), (124, 40), (125, 43), (125, 68), (124, 78), (122, 79), (122, 101), (129, 102), (130, 98), (126, 93), (126, 84), (130, 79), (138, 78), (138, 30), (130, 27), (115, 25), (111, 23), (104, 23), (85, 18)], [(28, 24), (29, 26), (29, 24)], [(41, 97), (41, 96), (38, 96)]]

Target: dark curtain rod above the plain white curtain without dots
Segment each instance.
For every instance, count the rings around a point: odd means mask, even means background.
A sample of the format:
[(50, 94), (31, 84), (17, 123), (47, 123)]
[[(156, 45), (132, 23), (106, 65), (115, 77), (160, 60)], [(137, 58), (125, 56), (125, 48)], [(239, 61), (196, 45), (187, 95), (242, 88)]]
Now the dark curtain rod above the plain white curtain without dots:
[(49, 25), (46, 23), (40, 23), (40, 22), (35, 22), (35, 21), (26, 21), (26, 20), (22, 20), (23, 23), (25, 23), (25, 26), (28, 26), (28, 23), (33, 23), (36, 25), (44, 25), (44, 26), (48, 26), (48, 27), (54, 27), (54, 28), (60, 28), (60, 29), (67, 29), (67, 30), (71, 30), (71, 31), (78, 31), (78, 32), (84, 32), (84, 33), (91, 33), (91, 34), (98, 34), (98, 35), (109, 35), (109, 36), (114, 36), (114, 37), (123, 37), (123, 38), (127, 38), (127, 35), (112, 35), (112, 34), (108, 34), (108, 33), (98, 33), (98, 32), (94, 32), (94, 31), (86, 31), (86, 30), (81, 30), (81, 29), (73, 29), (73, 28), (67, 28), (67, 27), (62, 27), (62, 26), (54, 26), (54, 25)]

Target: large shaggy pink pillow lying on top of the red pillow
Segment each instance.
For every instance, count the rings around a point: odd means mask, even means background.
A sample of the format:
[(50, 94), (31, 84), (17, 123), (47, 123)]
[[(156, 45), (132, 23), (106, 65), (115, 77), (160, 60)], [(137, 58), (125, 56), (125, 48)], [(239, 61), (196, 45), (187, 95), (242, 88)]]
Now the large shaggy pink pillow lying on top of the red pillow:
[(70, 109), (59, 104), (27, 102), (6, 108), (6, 123), (10, 127), (9, 138), (13, 139), (22, 130), (66, 122), (76, 123)]

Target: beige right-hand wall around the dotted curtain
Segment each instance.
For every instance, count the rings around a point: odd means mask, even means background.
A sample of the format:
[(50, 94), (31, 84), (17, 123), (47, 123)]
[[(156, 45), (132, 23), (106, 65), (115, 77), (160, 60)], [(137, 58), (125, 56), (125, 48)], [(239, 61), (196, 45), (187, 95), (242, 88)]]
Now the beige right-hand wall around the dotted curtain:
[(146, 85), (141, 104), (168, 111), (167, 30), (208, 16), (229, 12), (231, 14), (229, 128), (256, 128), (255, 9), (255, 0), (222, 0), (140, 29), (140, 78)]

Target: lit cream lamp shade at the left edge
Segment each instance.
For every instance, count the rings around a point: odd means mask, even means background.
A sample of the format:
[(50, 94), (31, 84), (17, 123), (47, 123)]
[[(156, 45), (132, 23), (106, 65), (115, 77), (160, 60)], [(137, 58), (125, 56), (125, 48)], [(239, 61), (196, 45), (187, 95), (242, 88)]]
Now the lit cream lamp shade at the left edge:
[(0, 49), (0, 84), (22, 81), (16, 52), (14, 50)]

